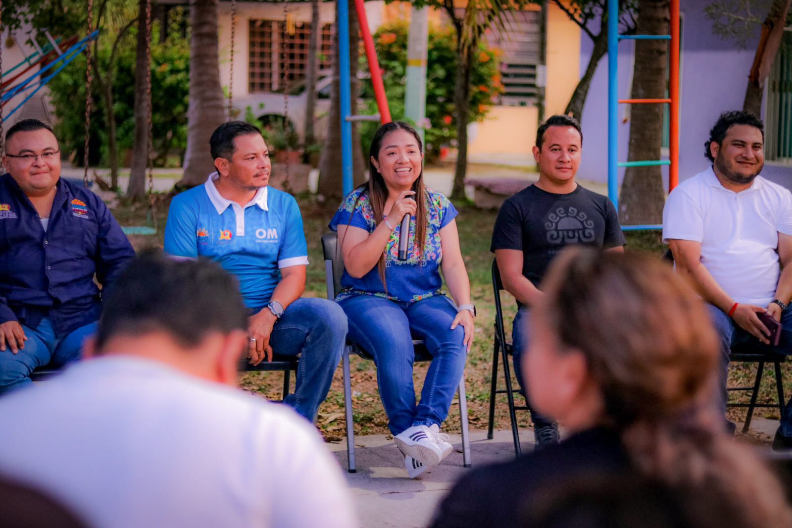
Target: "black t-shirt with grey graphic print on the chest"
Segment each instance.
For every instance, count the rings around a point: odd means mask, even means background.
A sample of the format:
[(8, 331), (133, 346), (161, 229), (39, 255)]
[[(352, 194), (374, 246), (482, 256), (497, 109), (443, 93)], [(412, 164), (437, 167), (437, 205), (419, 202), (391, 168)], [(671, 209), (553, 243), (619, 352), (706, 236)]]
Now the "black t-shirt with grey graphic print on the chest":
[(535, 285), (550, 261), (576, 244), (610, 248), (625, 244), (619, 216), (607, 197), (577, 186), (567, 194), (529, 186), (501, 206), (491, 251), (523, 252), (523, 274)]

